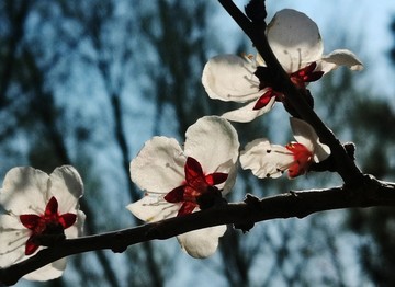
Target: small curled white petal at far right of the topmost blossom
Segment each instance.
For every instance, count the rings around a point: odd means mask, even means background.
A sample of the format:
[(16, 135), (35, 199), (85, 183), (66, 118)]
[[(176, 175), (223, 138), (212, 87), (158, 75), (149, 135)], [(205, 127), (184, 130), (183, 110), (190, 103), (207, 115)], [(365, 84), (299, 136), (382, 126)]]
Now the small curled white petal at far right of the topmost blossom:
[(363, 65), (356, 54), (348, 49), (336, 49), (329, 55), (323, 56), (321, 61), (318, 62), (317, 69), (327, 73), (340, 66), (346, 66), (352, 71), (360, 71), (363, 69)]

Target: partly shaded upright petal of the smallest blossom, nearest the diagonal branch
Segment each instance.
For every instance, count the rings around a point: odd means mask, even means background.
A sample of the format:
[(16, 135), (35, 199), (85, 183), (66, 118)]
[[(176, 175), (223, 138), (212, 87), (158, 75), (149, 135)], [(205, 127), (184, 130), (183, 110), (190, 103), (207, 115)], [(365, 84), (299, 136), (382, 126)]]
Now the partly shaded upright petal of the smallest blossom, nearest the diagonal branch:
[(315, 162), (329, 157), (329, 147), (319, 141), (317, 134), (309, 124), (296, 117), (291, 117), (290, 123), (294, 138), (314, 153)]

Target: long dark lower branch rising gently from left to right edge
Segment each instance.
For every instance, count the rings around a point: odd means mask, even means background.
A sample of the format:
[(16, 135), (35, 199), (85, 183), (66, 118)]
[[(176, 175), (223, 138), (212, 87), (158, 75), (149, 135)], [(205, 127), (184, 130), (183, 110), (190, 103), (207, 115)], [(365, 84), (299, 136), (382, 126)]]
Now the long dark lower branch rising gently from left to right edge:
[(274, 218), (303, 218), (311, 214), (351, 207), (395, 206), (395, 183), (365, 175), (357, 190), (347, 186), (297, 191), (258, 199), (248, 195), (244, 203), (227, 204), (183, 217), (147, 223), (103, 234), (68, 239), (40, 251), (34, 256), (0, 269), (0, 283), (15, 284), (22, 276), (50, 262), (72, 254), (110, 249), (123, 252), (127, 246), (169, 239), (178, 234), (218, 225), (242, 229)]

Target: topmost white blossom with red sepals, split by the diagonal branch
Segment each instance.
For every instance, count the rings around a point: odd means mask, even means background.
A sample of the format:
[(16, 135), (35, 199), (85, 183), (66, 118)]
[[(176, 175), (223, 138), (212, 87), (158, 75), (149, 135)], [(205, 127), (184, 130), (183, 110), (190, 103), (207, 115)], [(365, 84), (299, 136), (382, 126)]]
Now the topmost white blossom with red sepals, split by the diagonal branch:
[[(351, 70), (363, 68), (357, 56), (347, 49), (324, 54), (324, 43), (316, 23), (305, 14), (291, 9), (278, 12), (266, 31), (268, 42), (290, 80), (298, 89), (346, 66)], [(219, 55), (208, 60), (202, 82), (211, 99), (247, 103), (227, 112), (223, 117), (234, 122), (251, 122), (269, 112), (284, 95), (271, 78), (264, 60), (257, 56)], [(280, 89), (281, 90), (281, 89)]]

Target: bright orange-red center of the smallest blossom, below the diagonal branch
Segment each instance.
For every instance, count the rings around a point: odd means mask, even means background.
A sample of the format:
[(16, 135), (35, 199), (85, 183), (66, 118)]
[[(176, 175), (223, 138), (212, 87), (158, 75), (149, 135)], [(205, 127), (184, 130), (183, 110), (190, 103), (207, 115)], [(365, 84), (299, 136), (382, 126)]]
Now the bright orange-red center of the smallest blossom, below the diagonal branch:
[(292, 142), (285, 146), (293, 154), (294, 161), (289, 167), (289, 175), (291, 179), (307, 172), (313, 160), (313, 152), (304, 145)]

